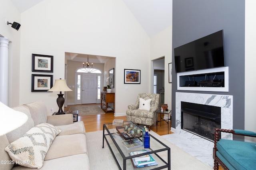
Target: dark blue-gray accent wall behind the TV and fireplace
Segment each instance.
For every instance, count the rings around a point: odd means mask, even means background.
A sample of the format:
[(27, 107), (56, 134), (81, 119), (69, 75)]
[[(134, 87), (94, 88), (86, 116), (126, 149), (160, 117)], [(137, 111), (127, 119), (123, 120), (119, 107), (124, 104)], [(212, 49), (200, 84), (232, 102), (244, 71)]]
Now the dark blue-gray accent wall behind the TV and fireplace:
[[(224, 30), (225, 64), (229, 67), (229, 92), (177, 90), (172, 74), (172, 126), (175, 128), (175, 93), (190, 92), (233, 96), (233, 128), (244, 129), (244, 0), (173, 0), (172, 68), (174, 48)], [(230, 118), (232, 119), (232, 117)]]

